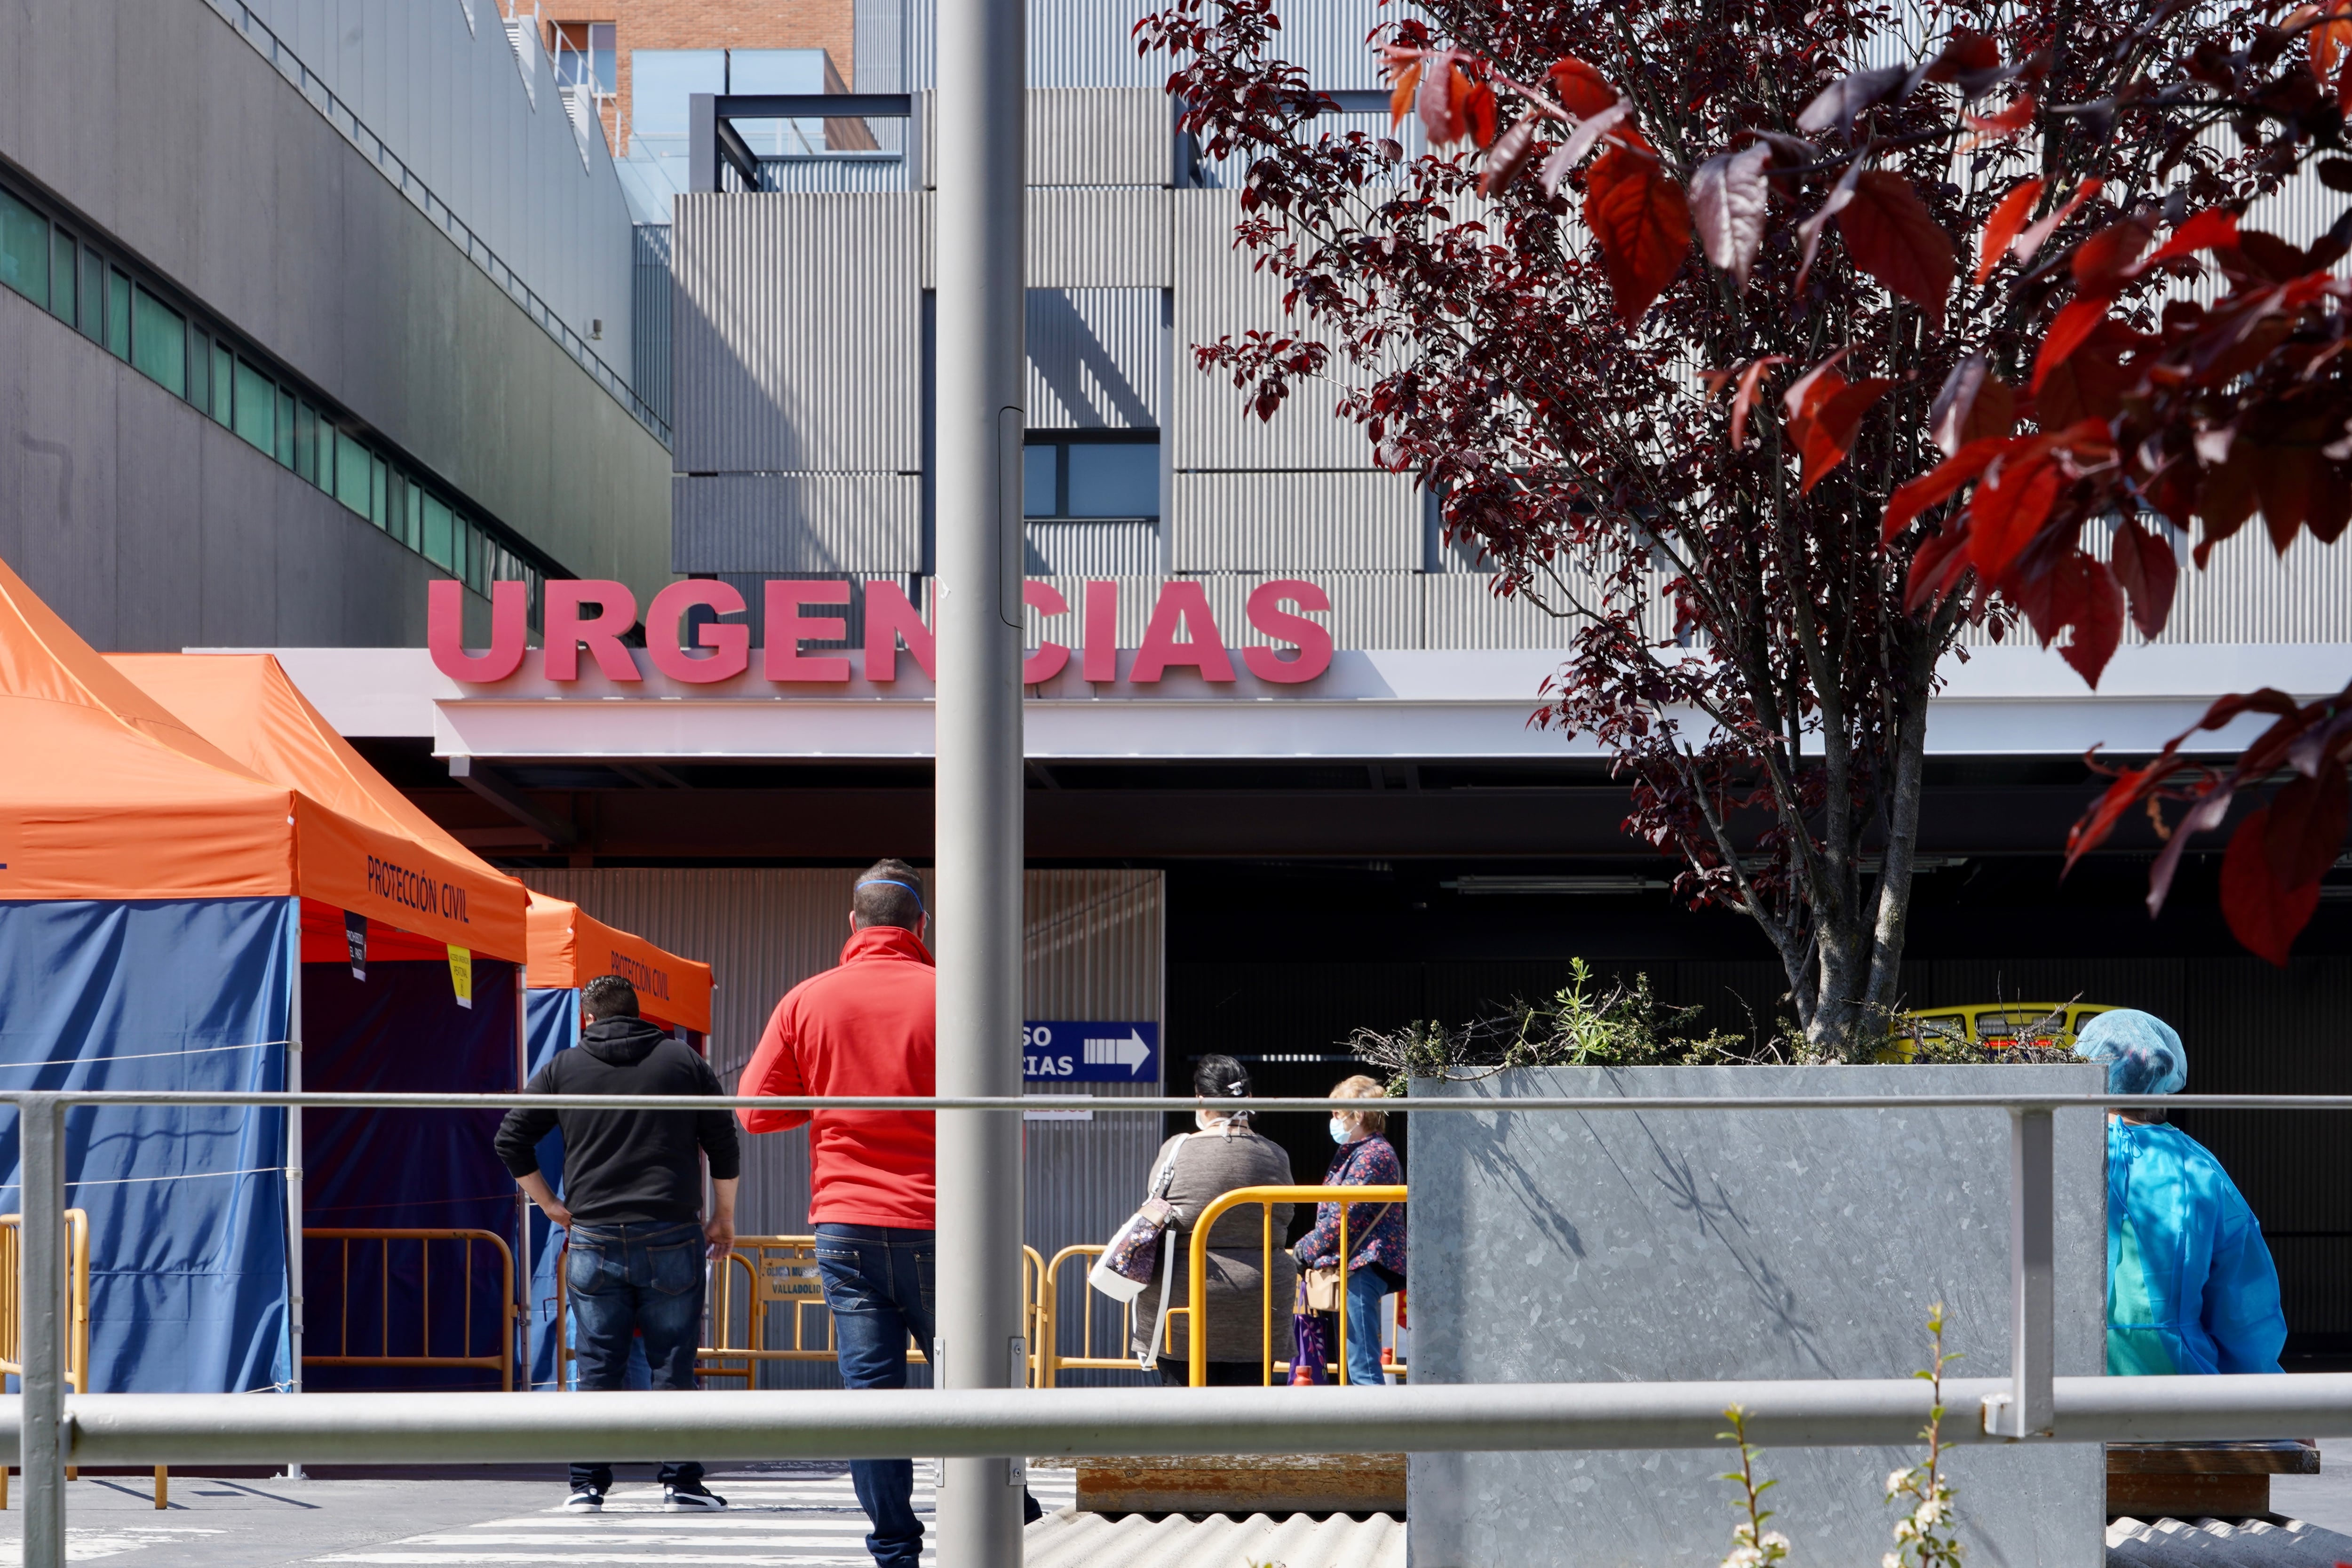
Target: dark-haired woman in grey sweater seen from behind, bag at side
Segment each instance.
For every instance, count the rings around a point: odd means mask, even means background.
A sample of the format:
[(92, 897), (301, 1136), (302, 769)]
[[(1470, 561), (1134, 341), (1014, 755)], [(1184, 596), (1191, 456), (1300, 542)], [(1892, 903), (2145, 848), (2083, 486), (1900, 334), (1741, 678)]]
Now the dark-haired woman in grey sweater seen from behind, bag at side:
[[(1181, 1133), (1160, 1145), (1152, 1159), (1145, 1192), (1157, 1185), (1167, 1164), (1176, 1161), (1167, 1199), (1176, 1208), (1176, 1286), (1174, 1305), (1190, 1298), (1192, 1276), (1192, 1222), (1209, 1204), (1235, 1187), (1289, 1187), (1291, 1157), (1279, 1143), (1249, 1131), (1249, 1112), (1230, 1107), (1232, 1100), (1249, 1098), (1249, 1072), (1230, 1056), (1204, 1056), (1192, 1070), (1192, 1093), (1209, 1105), (1195, 1112), (1197, 1133)], [(1209, 1229), (1207, 1258), (1207, 1314), (1209, 1314), (1209, 1382), (1251, 1385), (1265, 1380), (1265, 1237), (1263, 1208), (1242, 1204), (1228, 1208)], [(1272, 1354), (1291, 1354), (1291, 1300), (1298, 1293), (1298, 1265), (1284, 1251), (1291, 1227), (1291, 1206), (1275, 1204), (1272, 1232)], [(1162, 1279), (1136, 1298), (1136, 1354), (1150, 1354), (1152, 1326), (1160, 1321)], [(1192, 1380), (1190, 1331), (1183, 1316), (1171, 1316), (1160, 1354), (1160, 1382), (1185, 1385)]]

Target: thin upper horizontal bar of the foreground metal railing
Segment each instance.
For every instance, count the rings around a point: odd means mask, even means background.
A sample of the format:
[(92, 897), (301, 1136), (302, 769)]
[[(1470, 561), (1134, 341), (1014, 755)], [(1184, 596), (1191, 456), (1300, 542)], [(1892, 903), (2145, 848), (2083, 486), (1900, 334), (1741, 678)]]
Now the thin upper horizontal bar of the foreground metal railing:
[[(1209, 1100), (1155, 1095), (534, 1095), (522, 1091), (459, 1093), (238, 1093), (209, 1088), (56, 1088), (0, 1091), (0, 1105), (24, 1103), (42, 1093), (59, 1105), (313, 1105), (313, 1107), (383, 1107), (383, 1110), (499, 1110), (534, 1105), (541, 1110), (1094, 1110), (1094, 1112), (1188, 1112), (1207, 1110)], [(1244, 1112), (1334, 1112), (1362, 1107), (1364, 1100), (1284, 1095), (1249, 1100)], [(1444, 1095), (1414, 1100), (1374, 1100), (1390, 1117), (1411, 1112), (1611, 1112), (1611, 1110), (2352, 1110), (2352, 1095), (1526, 1095), (1477, 1098)], [(1214, 1110), (1232, 1110), (1216, 1100)]]

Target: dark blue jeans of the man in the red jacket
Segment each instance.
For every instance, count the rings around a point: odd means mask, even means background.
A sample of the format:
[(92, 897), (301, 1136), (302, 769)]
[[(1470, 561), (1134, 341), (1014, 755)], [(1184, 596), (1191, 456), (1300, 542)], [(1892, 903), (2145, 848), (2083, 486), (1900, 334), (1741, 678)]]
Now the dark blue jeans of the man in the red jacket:
[[(842, 1385), (903, 1389), (906, 1340), (929, 1349), (938, 1253), (931, 1232), (896, 1225), (818, 1225), (816, 1276), (833, 1309), (833, 1347)], [(866, 1549), (880, 1568), (917, 1568), (922, 1521), (915, 1519), (913, 1460), (851, 1460), (849, 1481), (873, 1521)]]

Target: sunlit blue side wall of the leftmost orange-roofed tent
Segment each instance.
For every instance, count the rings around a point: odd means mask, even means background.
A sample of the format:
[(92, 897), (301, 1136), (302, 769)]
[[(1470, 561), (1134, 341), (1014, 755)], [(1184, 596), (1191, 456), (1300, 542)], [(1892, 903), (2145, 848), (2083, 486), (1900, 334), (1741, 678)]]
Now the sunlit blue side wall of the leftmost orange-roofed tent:
[[(285, 1088), (292, 898), (0, 903), (0, 1086)], [(16, 1128), (7, 1190), (21, 1208)], [(285, 1112), (66, 1117), (89, 1213), (89, 1389), (233, 1394), (289, 1380)]]

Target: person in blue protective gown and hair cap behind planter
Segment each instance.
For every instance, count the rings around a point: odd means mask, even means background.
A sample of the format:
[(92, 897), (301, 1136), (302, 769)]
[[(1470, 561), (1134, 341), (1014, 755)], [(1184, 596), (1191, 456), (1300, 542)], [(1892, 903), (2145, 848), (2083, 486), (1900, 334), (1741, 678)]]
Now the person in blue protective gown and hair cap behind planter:
[[(2190, 1081), (2180, 1034), (2152, 1013), (2098, 1013), (2074, 1056), (2107, 1065), (2107, 1093)], [(2284, 1345), (2279, 1272), (2237, 1182), (2161, 1110), (2110, 1112), (2107, 1375), (2277, 1373)]]

